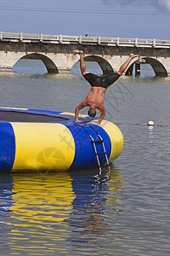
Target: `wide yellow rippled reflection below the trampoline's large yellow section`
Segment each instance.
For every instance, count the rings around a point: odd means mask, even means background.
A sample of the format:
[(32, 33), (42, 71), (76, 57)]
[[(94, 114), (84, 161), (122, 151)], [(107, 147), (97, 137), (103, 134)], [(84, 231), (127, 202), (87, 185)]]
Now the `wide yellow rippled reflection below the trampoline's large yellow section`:
[(63, 223), (70, 216), (75, 197), (70, 175), (66, 172), (46, 176), (20, 173), (12, 177), (10, 246), (17, 251), (37, 253), (62, 250), (56, 247), (55, 241), (65, 241), (70, 233)]

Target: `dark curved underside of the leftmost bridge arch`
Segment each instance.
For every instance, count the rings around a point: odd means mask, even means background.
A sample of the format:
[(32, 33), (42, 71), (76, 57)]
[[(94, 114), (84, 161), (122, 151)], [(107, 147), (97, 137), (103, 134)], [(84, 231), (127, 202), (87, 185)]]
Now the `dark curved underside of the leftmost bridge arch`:
[[(37, 54), (37, 53), (31, 53), (24, 55), (20, 58), (21, 59), (31, 59), (31, 60), (41, 60), (45, 67), (48, 70), (48, 73), (59, 73), (58, 68), (54, 64), (54, 61), (52, 61), (50, 58), (48, 58), (46, 55)], [(20, 61), (18, 60), (18, 61)], [(16, 62), (15, 62), (16, 64)]]

